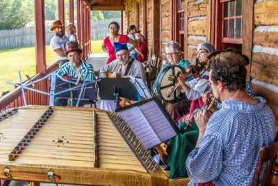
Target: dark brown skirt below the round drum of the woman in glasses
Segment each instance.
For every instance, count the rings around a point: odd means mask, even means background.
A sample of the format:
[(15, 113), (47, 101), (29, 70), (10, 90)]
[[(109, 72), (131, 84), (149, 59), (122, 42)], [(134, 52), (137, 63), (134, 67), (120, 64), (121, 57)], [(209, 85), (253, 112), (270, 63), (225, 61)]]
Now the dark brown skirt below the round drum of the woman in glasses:
[(181, 116), (187, 114), (190, 109), (190, 100), (183, 98), (179, 102), (170, 103), (167, 102), (165, 105), (165, 109), (170, 114), (171, 118), (174, 121), (177, 121)]

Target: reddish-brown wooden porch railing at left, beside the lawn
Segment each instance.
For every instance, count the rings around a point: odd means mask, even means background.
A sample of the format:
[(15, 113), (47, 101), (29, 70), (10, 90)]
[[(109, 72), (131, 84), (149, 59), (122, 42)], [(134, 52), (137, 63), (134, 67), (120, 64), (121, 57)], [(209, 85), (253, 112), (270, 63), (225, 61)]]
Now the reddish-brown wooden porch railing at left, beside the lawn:
[[(51, 72), (54, 72), (58, 68), (58, 62), (52, 63), (47, 67), (47, 75)], [(42, 78), (42, 74), (37, 74), (31, 78), (32, 81)], [(24, 84), (28, 84), (28, 80), (24, 82)], [(48, 91), (49, 90), (49, 81), (45, 79), (41, 82), (35, 84), (35, 89), (40, 91)], [(48, 99), (46, 95), (42, 95), (41, 93), (36, 93), (34, 91), (28, 91), (25, 89), (24, 91), (26, 104), (38, 104), (38, 105), (46, 105), (48, 104)], [(10, 93), (7, 93), (2, 98), (0, 98), (0, 111), (5, 111), (6, 109), (10, 109), (13, 107), (21, 107), (24, 106), (24, 99), (22, 96), (22, 89), (20, 87), (15, 88)]]

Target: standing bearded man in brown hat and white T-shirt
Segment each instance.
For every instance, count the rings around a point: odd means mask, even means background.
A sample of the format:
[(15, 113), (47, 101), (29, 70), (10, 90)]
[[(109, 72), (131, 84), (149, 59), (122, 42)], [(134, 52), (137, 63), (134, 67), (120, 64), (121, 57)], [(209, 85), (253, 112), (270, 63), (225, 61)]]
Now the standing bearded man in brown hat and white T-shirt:
[(64, 37), (63, 26), (64, 24), (62, 24), (60, 20), (57, 20), (52, 23), (50, 28), (51, 31), (55, 31), (55, 36), (51, 38), (50, 46), (51, 49), (54, 50), (58, 61), (60, 61), (60, 66), (69, 62), (67, 54), (65, 54), (65, 44), (67, 43), (67, 38)]

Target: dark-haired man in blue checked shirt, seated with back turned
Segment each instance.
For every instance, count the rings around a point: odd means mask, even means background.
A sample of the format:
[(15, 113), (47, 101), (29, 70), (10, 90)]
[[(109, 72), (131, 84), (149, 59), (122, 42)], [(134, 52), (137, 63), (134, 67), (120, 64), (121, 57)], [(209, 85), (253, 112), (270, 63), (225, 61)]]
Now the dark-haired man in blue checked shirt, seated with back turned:
[(245, 59), (209, 56), (209, 82), (222, 109), (195, 115), (199, 137), (186, 160), (189, 185), (252, 185), (259, 151), (275, 141), (275, 117), (261, 97), (245, 93)]

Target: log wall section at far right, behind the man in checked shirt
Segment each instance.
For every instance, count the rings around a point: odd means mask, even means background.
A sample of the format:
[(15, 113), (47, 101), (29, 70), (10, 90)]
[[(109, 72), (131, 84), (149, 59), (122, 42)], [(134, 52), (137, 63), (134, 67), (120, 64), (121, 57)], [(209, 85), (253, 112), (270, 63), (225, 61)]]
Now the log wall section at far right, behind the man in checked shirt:
[(254, 4), (251, 77), (256, 95), (262, 95), (278, 123), (278, 1)]

